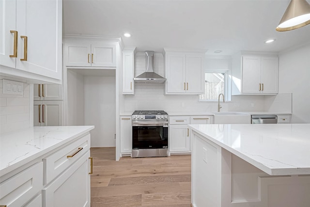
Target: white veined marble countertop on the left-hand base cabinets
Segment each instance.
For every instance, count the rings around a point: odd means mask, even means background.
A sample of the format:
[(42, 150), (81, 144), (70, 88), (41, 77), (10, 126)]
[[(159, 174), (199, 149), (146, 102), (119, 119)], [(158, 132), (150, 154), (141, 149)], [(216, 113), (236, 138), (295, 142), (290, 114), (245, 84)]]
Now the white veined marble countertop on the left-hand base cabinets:
[(0, 175), (92, 130), (94, 126), (29, 127), (0, 136)]

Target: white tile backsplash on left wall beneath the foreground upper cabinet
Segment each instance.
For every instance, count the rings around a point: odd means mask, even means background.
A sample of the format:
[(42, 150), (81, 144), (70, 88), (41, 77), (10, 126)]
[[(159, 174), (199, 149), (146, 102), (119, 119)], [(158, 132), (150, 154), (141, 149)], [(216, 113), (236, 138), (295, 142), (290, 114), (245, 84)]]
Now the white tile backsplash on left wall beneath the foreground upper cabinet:
[(3, 94), (2, 85), (3, 81), (1, 79), (0, 133), (33, 126), (33, 85), (24, 83), (24, 95)]

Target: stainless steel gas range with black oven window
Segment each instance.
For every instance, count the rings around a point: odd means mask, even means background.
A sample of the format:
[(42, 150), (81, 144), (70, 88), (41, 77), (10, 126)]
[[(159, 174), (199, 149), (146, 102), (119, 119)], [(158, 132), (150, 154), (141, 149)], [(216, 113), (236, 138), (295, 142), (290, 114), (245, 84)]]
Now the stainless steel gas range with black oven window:
[(132, 157), (168, 156), (168, 134), (166, 111), (134, 111)]

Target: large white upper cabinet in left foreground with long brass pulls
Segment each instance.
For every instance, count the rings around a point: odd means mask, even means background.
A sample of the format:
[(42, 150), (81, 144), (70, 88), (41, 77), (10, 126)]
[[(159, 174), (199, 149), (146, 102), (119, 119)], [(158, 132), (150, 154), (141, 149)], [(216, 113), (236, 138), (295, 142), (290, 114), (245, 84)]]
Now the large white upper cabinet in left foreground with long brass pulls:
[(0, 9), (1, 74), (61, 83), (62, 0), (1, 0)]

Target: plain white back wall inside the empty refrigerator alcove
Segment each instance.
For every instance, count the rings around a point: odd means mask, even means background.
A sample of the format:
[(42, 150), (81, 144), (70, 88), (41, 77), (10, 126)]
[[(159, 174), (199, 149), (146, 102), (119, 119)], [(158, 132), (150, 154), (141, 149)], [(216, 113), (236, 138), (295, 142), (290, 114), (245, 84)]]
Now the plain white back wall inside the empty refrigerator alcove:
[(115, 146), (115, 76), (85, 76), (85, 125), (91, 131), (92, 147)]

